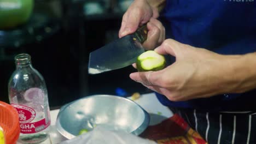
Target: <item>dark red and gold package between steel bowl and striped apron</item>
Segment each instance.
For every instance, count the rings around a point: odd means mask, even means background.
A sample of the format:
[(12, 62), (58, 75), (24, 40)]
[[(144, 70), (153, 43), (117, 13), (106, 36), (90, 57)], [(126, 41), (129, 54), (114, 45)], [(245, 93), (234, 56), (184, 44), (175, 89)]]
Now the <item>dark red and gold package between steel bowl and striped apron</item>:
[(159, 144), (205, 144), (200, 134), (191, 129), (177, 114), (157, 125), (149, 126), (141, 135)]

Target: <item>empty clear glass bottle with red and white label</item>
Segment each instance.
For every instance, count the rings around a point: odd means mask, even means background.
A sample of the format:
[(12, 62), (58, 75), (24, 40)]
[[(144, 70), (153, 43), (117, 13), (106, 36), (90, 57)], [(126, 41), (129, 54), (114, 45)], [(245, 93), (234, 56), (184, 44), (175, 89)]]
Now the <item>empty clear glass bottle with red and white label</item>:
[(50, 109), (43, 76), (32, 67), (31, 56), (15, 56), (16, 70), (8, 83), (10, 104), (19, 113), (21, 143), (40, 143), (49, 137)]

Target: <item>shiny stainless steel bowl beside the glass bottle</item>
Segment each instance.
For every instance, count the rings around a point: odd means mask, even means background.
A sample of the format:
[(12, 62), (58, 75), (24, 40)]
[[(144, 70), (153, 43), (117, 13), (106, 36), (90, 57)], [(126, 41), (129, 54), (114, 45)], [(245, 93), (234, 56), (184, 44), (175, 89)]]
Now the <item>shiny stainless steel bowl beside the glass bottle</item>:
[(91, 95), (62, 106), (56, 120), (57, 130), (67, 139), (81, 129), (102, 127), (141, 134), (149, 124), (149, 114), (134, 101), (115, 95)]

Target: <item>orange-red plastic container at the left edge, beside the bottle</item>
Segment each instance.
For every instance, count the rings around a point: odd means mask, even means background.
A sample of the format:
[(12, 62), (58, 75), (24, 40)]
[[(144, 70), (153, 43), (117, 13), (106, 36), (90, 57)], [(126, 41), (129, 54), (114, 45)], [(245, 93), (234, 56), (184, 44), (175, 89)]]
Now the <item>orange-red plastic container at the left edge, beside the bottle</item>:
[(13, 106), (0, 101), (0, 126), (4, 130), (6, 144), (15, 144), (20, 136), (19, 115)]

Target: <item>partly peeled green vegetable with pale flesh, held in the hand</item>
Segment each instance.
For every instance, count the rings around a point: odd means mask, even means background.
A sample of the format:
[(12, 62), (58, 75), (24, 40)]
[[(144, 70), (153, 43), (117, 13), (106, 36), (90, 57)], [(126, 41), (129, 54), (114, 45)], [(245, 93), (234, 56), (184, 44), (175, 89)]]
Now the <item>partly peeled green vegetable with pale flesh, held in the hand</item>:
[(165, 68), (165, 57), (155, 51), (143, 52), (137, 58), (138, 71), (158, 71)]

